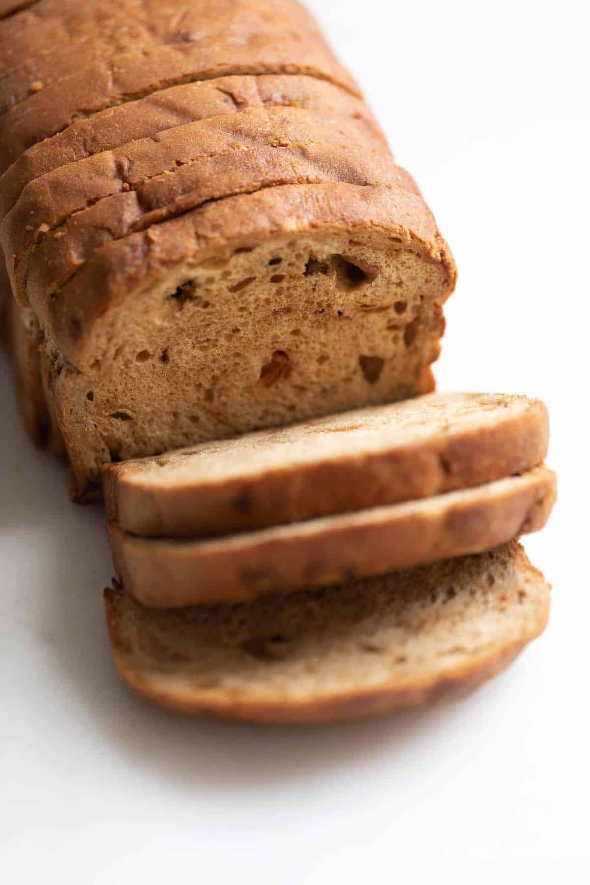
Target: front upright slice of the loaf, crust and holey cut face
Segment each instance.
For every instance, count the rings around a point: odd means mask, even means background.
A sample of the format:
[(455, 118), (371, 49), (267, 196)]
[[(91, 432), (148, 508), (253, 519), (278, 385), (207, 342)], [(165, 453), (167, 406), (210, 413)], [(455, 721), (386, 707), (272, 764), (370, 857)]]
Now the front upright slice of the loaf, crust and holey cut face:
[(432, 390), (455, 279), (419, 196), (340, 182), (102, 246), (35, 305), (76, 495), (110, 461)]

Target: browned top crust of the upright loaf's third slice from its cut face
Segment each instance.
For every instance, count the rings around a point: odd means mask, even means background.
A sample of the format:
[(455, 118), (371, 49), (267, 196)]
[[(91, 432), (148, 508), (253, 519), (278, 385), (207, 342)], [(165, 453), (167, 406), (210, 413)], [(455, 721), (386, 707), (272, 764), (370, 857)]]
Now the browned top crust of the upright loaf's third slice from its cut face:
[[(195, 186), (203, 186), (211, 177), (203, 161), (226, 159), (236, 151), (238, 158), (243, 153), (259, 158), (260, 150), (267, 148), (258, 162), (261, 171), (270, 165), (272, 155), (290, 151), (307, 160), (310, 175), (318, 167), (333, 181), (392, 183), (418, 192), (379, 139), (380, 150), (374, 147), (375, 141), (358, 129), (354, 119), (298, 107), (255, 107), (199, 119), (61, 166), (31, 181), (4, 219), (4, 252), (18, 267), (27, 247), (63, 225), (74, 212), (95, 209), (106, 196), (148, 189), (157, 176), (163, 176), (172, 191), (170, 182), (178, 180), (179, 174), (193, 173)], [(139, 202), (143, 202), (141, 196)], [(154, 204), (147, 198), (147, 212), (150, 205)]]

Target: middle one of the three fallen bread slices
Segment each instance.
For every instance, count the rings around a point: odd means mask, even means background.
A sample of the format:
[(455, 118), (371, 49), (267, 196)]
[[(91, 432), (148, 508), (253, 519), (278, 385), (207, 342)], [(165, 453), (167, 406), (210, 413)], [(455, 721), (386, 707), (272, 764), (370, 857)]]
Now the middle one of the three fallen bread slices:
[(546, 467), (475, 489), (214, 540), (142, 538), (109, 524), (127, 592), (159, 608), (243, 602), (479, 553), (539, 530), (556, 500)]

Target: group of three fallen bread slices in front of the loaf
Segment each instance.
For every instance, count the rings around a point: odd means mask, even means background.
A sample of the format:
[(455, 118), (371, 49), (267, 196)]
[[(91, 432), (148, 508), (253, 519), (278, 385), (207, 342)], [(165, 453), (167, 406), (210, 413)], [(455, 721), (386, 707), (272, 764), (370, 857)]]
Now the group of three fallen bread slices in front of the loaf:
[(547, 444), (536, 400), (431, 394), (106, 467), (119, 672), (270, 722), (483, 681), (548, 618), (515, 540), (555, 501)]

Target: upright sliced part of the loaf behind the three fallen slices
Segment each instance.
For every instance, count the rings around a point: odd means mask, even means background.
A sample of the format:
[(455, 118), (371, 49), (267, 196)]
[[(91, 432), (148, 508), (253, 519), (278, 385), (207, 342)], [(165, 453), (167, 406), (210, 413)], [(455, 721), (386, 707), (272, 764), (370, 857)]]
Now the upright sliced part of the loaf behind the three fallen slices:
[(303, 6), (40, 0), (0, 57), (1, 240), (74, 496), (433, 389), (453, 259)]

